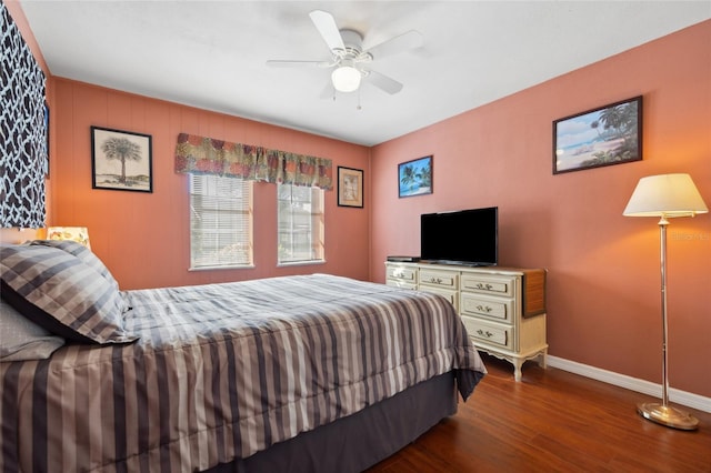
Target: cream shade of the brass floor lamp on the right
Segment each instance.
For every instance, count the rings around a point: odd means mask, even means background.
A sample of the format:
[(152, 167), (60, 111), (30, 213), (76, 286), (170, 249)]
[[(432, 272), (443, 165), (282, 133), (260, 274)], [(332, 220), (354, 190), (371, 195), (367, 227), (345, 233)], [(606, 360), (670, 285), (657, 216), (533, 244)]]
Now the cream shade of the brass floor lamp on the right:
[(708, 212), (689, 174), (660, 174), (640, 179), (622, 214), (673, 218)]

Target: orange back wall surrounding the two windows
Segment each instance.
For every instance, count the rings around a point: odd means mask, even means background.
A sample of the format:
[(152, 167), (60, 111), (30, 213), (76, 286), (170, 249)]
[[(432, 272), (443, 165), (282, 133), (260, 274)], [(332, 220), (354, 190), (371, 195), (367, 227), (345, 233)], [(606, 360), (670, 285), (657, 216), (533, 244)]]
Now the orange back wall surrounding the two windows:
[[(180, 132), (263, 145), (333, 160), (370, 172), (369, 149), (250, 120), (53, 78), (54, 154), (51, 224), (89, 228), (92, 250), (121, 289), (201, 284), (286, 274), (330, 272), (369, 276), (368, 210), (340, 208), (326, 192), (326, 264), (277, 268), (277, 187), (254, 184), (254, 269), (188, 271), (190, 265), (188, 175), (173, 171)], [(91, 188), (90, 127), (152, 135), (153, 192)], [(369, 199), (365, 199), (368, 205)]]

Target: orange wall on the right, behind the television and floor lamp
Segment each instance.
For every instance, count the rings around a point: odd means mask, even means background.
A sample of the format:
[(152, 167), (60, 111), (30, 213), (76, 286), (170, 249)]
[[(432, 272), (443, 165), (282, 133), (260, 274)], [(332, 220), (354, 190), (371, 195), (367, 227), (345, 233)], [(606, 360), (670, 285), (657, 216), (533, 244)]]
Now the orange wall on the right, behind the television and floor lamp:
[[(550, 353), (661, 380), (659, 229), (624, 218), (638, 180), (688, 172), (711, 205), (711, 21), (378, 145), (371, 274), (419, 254), (424, 212), (499, 207), (500, 264), (547, 268)], [(495, 73), (495, 71), (494, 71)], [(552, 174), (552, 121), (643, 95), (643, 161)], [(433, 154), (433, 193), (397, 165)], [(711, 396), (711, 217), (669, 228), (672, 388)]]

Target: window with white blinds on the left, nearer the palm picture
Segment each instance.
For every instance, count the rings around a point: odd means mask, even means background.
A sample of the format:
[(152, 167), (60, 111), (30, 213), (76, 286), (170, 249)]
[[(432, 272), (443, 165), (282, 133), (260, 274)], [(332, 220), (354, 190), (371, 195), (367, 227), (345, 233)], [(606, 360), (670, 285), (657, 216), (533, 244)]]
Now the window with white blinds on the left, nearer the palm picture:
[(252, 264), (252, 181), (190, 174), (190, 268)]

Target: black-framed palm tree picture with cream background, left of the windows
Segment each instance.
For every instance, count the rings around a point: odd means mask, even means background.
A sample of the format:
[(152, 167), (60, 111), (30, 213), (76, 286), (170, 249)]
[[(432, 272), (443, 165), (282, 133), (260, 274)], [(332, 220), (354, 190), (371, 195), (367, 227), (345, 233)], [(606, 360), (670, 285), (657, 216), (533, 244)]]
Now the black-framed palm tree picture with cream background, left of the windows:
[(151, 135), (91, 127), (91, 187), (153, 192)]

